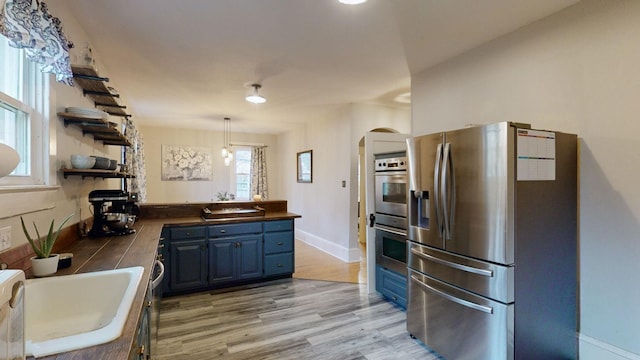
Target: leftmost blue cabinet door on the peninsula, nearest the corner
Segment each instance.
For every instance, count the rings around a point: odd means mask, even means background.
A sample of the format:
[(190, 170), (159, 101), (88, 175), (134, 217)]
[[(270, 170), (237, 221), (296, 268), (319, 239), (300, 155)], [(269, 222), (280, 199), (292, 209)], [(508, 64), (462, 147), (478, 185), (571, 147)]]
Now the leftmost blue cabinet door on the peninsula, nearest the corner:
[(169, 291), (207, 285), (207, 252), (204, 239), (171, 243)]

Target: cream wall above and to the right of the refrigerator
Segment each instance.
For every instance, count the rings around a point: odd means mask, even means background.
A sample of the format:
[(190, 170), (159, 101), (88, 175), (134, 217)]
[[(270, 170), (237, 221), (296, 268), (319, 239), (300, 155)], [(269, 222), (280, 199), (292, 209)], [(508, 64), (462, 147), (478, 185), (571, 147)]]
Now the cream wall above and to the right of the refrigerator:
[(639, 24), (640, 1), (583, 0), (412, 77), (414, 135), (503, 120), (578, 134), (583, 359), (640, 354)]

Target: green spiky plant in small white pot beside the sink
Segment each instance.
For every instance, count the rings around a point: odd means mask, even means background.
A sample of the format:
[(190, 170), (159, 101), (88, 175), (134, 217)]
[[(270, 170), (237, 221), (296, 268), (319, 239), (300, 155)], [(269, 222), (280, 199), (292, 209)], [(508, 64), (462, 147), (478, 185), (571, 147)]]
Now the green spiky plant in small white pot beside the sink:
[(53, 223), (55, 221), (51, 220), (51, 225), (49, 226), (49, 233), (46, 238), (40, 238), (40, 233), (38, 232), (38, 227), (36, 223), (33, 223), (33, 228), (36, 230), (36, 238), (32, 238), (27, 230), (27, 227), (24, 225), (24, 220), (22, 216), (20, 216), (20, 222), (22, 223), (22, 231), (24, 235), (27, 237), (33, 252), (36, 256), (31, 258), (31, 269), (33, 270), (33, 276), (41, 277), (53, 275), (58, 271), (58, 260), (60, 258), (59, 254), (51, 255), (51, 250), (53, 249), (53, 244), (58, 240), (58, 236), (60, 235), (60, 230), (67, 221), (71, 220), (74, 214), (67, 216), (66, 219), (60, 224), (57, 231), (53, 231)]

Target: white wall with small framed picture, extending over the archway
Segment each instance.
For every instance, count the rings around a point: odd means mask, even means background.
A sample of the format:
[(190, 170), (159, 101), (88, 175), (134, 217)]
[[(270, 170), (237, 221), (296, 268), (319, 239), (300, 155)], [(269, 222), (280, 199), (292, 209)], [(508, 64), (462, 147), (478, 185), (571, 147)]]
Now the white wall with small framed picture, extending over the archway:
[[(328, 109), (322, 121), (279, 136), (282, 194), (296, 220), (296, 237), (344, 261), (359, 261), (358, 143), (375, 128), (409, 132), (409, 110), (376, 105)], [(313, 150), (313, 182), (296, 182), (297, 152)], [(346, 186), (342, 187), (342, 181)]]

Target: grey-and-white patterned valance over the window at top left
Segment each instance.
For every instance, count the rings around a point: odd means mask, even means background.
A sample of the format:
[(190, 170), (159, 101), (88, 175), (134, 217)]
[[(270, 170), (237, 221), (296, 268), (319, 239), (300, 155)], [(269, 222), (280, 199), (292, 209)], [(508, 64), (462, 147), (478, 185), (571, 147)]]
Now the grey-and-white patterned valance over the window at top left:
[[(4, 4), (3, 4), (4, 3)], [(9, 45), (24, 49), (40, 70), (55, 74), (58, 82), (73, 85), (69, 48), (73, 43), (62, 31), (60, 19), (52, 16), (44, 1), (0, 0), (0, 34)]]

